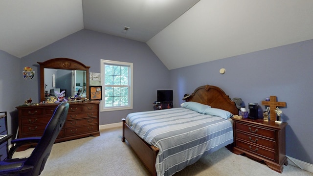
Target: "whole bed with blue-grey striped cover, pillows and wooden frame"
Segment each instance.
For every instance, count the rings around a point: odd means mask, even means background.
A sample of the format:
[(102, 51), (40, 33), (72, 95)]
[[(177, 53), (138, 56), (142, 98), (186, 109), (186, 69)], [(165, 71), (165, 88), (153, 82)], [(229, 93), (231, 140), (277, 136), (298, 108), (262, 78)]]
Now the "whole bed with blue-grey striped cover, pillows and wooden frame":
[[(171, 176), (233, 142), (229, 117), (238, 114), (238, 109), (221, 88), (196, 88), (183, 104), (180, 108), (134, 112), (122, 119), (122, 141), (128, 141), (152, 176)], [(187, 107), (194, 104), (196, 108)], [(227, 112), (227, 117), (217, 117), (215, 110)], [(177, 138), (170, 139), (168, 134)]]

